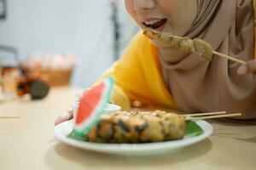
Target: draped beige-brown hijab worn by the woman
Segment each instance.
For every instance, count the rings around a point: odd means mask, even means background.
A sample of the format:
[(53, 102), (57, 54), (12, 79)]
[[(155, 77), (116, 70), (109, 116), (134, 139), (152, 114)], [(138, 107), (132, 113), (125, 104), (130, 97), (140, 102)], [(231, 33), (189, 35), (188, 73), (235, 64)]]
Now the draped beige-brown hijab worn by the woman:
[[(212, 48), (239, 59), (253, 59), (253, 0), (197, 0), (198, 14), (186, 36), (200, 37)], [(239, 64), (214, 56), (209, 62), (197, 54), (160, 61), (166, 85), (182, 111), (242, 112), (256, 117), (253, 75), (238, 76)]]

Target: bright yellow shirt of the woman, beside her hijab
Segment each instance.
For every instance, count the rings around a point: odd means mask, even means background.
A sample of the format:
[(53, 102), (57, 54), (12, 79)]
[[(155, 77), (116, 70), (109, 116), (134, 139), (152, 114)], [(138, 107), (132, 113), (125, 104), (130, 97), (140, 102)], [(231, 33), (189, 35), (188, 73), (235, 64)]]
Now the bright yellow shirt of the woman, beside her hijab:
[(177, 109), (161, 77), (157, 49), (142, 32), (133, 38), (122, 58), (103, 75), (109, 76), (116, 82), (111, 100), (123, 110), (129, 109), (133, 100), (143, 105)]

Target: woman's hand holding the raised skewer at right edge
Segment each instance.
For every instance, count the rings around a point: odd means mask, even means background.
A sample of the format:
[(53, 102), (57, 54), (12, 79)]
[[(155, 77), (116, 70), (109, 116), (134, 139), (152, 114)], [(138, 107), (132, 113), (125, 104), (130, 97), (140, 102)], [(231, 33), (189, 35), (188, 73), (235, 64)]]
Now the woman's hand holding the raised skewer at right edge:
[(238, 70), (237, 74), (245, 75), (252, 73), (254, 77), (254, 82), (256, 82), (256, 59), (249, 60), (246, 65), (241, 65)]

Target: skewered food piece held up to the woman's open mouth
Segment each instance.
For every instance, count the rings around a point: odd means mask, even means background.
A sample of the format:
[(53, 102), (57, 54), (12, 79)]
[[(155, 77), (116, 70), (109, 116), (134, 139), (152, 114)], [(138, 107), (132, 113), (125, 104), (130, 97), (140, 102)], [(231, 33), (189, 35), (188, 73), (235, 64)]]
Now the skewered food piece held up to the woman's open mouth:
[(148, 28), (143, 33), (150, 39), (159, 39), (160, 41), (165, 42), (171, 48), (183, 50), (187, 53), (197, 53), (207, 60), (212, 60), (212, 46), (201, 39), (177, 37), (172, 35), (172, 33), (155, 31), (151, 28)]

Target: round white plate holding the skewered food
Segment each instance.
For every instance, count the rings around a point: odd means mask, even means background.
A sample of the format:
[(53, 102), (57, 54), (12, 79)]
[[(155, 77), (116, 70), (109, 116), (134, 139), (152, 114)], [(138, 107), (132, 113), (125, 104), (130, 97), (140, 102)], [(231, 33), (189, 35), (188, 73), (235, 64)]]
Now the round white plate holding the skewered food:
[(190, 144), (195, 144), (201, 140), (207, 139), (212, 134), (212, 125), (205, 121), (197, 121), (197, 124), (203, 129), (204, 133), (200, 136), (186, 135), (183, 139), (152, 143), (152, 144), (96, 144), (86, 141), (79, 141), (67, 138), (67, 134), (73, 129), (73, 121), (63, 122), (55, 127), (55, 136), (61, 142), (81, 148), (83, 150), (93, 150), (108, 154), (117, 154), (125, 156), (150, 155), (171, 150), (176, 150)]

